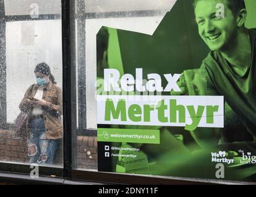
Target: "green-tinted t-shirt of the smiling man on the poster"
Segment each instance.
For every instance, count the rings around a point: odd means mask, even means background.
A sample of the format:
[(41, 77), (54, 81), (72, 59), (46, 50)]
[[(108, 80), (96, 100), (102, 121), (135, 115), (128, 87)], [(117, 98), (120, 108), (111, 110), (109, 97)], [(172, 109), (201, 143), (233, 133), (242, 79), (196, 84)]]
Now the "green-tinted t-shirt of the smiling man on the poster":
[(207, 71), (207, 95), (224, 95), (225, 102), (256, 139), (256, 30), (249, 30), (249, 35), (252, 62), (244, 76), (234, 73), (218, 51), (211, 51), (201, 68)]

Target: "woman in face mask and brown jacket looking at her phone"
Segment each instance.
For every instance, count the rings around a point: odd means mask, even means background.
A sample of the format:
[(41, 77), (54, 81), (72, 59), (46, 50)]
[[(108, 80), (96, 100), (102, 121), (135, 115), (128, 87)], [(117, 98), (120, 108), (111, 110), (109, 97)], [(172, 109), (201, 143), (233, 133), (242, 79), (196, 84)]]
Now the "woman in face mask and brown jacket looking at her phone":
[(53, 164), (62, 139), (62, 91), (46, 63), (36, 65), (35, 76), (19, 105), (29, 115), (28, 156), (30, 163)]

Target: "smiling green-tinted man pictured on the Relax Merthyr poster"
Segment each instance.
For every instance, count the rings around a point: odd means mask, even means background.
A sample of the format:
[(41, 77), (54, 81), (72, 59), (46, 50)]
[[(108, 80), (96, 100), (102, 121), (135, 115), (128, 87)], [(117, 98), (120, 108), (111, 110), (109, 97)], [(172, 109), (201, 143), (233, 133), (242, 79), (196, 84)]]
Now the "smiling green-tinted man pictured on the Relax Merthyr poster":
[[(201, 66), (207, 75), (207, 95), (224, 95), (225, 102), (236, 113), (255, 141), (256, 31), (245, 28), (245, 2), (194, 0), (194, 10), (198, 34), (211, 50)], [(182, 92), (173, 94), (186, 94), (187, 84), (189, 81), (179, 81)], [(192, 134), (199, 143), (207, 141), (202, 132), (203, 130), (194, 131)], [(210, 136), (217, 135), (220, 136)], [(255, 148), (254, 143), (243, 144), (245, 148)], [(236, 147), (235, 144), (229, 145)], [(241, 145), (239, 143), (239, 146)]]

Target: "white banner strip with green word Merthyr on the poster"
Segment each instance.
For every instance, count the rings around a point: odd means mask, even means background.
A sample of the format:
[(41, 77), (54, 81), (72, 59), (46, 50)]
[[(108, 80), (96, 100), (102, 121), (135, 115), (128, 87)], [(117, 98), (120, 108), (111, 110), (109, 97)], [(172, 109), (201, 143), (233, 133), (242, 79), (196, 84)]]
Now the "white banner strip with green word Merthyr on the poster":
[(98, 95), (98, 124), (224, 127), (223, 96)]

